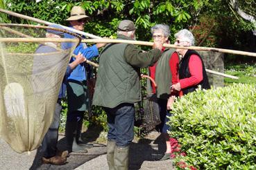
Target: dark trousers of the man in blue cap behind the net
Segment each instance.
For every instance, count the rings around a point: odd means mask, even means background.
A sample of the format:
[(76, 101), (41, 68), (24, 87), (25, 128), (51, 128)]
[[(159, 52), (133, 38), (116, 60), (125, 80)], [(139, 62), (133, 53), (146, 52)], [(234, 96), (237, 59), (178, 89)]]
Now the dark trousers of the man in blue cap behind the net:
[(53, 122), (51, 123), (50, 128), (44, 135), (44, 139), (42, 141), (42, 152), (44, 153), (44, 158), (51, 158), (56, 155), (61, 109), (62, 106), (60, 100), (58, 100), (53, 115)]

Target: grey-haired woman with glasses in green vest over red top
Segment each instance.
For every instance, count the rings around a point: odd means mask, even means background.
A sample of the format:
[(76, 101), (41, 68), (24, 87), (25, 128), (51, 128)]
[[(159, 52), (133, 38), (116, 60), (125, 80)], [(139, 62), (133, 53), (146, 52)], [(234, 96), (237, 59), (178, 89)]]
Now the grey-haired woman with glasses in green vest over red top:
[[(154, 41), (161, 41), (162, 43), (169, 44), (170, 28), (164, 24), (157, 24), (151, 28), (151, 33)], [(170, 159), (171, 155), (171, 145), (169, 141), (169, 135), (167, 130), (166, 122), (168, 121), (167, 116), (170, 116), (169, 110), (171, 103), (178, 93), (177, 91), (171, 91), (171, 84), (178, 83), (178, 64), (179, 57), (178, 54), (173, 49), (162, 48), (162, 56), (155, 63), (154, 66), (149, 68), (150, 75), (155, 79), (157, 84), (157, 89), (153, 87), (153, 93), (157, 95), (157, 103), (160, 107), (160, 120), (161, 124), (156, 126), (157, 131), (160, 131), (166, 140), (167, 150), (162, 155), (160, 160)]]

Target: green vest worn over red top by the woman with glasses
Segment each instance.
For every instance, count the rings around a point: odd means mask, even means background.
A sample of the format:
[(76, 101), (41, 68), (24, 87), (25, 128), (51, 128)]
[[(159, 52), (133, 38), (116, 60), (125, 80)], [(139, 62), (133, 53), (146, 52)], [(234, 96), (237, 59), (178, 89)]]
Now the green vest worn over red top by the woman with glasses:
[(171, 58), (172, 53), (175, 52), (173, 48), (167, 48), (162, 53), (162, 56), (157, 61), (157, 65), (155, 67), (155, 83), (157, 84), (156, 93), (157, 98), (168, 99), (171, 93), (171, 71), (169, 60)]

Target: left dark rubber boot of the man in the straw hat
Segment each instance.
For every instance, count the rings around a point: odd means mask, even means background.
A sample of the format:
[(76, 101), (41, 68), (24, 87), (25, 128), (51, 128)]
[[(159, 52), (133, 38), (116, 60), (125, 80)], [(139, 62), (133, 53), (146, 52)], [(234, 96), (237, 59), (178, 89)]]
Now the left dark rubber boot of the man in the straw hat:
[(72, 152), (88, 152), (85, 147), (76, 143), (77, 122), (66, 122), (65, 135), (67, 138), (67, 151)]

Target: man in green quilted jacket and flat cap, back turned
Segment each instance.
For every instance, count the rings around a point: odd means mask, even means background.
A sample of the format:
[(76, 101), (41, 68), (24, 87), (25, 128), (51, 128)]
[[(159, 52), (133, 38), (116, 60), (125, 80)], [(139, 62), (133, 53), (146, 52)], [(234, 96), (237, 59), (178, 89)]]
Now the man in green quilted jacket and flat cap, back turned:
[[(134, 40), (135, 29), (133, 21), (123, 20), (117, 38)], [(129, 145), (134, 137), (134, 103), (141, 100), (139, 68), (157, 62), (162, 43), (155, 41), (153, 48), (143, 53), (133, 44), (108, 44), (101, 52), (92, 104), (103, 106), (108, 116), (109, 169), (128, 169)]]

